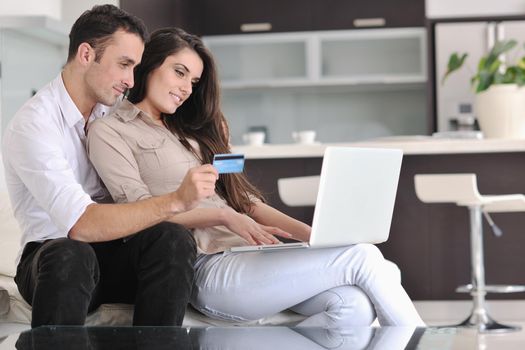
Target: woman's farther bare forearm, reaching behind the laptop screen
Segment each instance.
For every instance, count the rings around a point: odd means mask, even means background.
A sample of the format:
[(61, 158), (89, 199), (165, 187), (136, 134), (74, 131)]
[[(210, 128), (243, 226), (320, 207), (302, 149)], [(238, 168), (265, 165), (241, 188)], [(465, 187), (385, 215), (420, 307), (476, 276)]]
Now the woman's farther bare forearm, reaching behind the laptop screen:
[(290, 233), (292, 238), (308, 242), (311, 227), (263, 202), (254, 202), (250, 216), (262, 225), (271, 225)]

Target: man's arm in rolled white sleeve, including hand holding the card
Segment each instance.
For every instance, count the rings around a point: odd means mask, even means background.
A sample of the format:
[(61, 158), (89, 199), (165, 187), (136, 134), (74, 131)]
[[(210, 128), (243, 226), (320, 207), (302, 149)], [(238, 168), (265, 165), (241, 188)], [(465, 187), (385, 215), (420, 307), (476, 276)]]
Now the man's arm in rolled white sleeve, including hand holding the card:
[(96, 204), (74, 175), (60, 127), (38, 117), (5, 133), (4, 161), (54, 225), (72, 239), (94, 242), (125, 237), (193, 208), (214, 191), (218, 175), (206, 165), (190, 170), (177, 192), (139, 203)]

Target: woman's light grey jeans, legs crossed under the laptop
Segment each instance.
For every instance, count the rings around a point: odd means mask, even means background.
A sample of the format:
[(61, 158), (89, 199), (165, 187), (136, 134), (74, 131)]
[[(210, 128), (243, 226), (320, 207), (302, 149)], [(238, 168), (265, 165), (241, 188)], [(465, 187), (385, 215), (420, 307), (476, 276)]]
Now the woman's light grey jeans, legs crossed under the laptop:
[(209, 317), (252, 321), (291, 309), (298, 326), (424, 326), (399, 269), (371, 244), (202, 256), (192, 305)]

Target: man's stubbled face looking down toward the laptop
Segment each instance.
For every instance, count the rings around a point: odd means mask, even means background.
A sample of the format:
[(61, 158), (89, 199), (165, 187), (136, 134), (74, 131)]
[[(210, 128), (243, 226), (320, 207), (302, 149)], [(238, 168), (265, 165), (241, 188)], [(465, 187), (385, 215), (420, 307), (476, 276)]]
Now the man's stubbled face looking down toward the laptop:
[(144, 43), (132, 33), (118, 30), (85, 74), (88, 97), (96, 103), (114, 105), (126, 89), (133, 87), (133, 68), (140, 62)]

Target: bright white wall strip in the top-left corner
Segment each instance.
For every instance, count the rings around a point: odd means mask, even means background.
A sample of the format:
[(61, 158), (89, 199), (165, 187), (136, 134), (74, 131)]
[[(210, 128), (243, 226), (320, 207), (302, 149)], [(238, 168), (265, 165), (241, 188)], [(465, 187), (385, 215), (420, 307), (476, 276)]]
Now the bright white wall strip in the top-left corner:
[[(64, 0), (67, 2), (67, 0)], [(73, 1), (74, 2), (74, 1)], [(62, 0), (2, 0), (1, 16), (45, 15), (54, 19), (62, 16)]]

